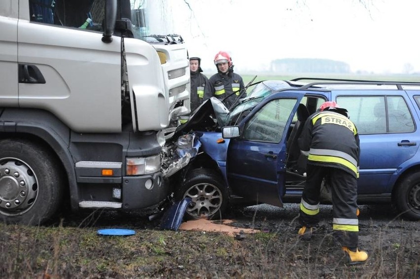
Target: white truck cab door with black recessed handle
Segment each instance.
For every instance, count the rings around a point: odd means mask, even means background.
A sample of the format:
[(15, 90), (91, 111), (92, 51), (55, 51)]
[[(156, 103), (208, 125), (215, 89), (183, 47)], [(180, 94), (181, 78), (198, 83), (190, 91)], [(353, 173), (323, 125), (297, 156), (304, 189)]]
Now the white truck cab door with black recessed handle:
[(102, 31), (79, 28), (86, 13), (57, 17), (40, 2), (19, 0), (19, 106), (48, 110), (76, 132), (120, 132), (121, 38), (105, 43)]

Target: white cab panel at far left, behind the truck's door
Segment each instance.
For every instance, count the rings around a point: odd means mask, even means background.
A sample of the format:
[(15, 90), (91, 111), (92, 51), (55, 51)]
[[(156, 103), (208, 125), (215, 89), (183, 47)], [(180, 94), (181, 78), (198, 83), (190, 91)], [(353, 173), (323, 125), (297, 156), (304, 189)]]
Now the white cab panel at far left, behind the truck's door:
[(0, 2), (0, 84), (1, 106), (17, 106), (17, 23), (18, 2)]

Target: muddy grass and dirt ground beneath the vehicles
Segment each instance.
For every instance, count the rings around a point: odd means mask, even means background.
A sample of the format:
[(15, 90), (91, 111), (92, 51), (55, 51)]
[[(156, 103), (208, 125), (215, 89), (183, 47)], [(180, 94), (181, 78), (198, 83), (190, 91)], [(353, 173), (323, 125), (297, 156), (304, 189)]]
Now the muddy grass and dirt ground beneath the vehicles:
[[(0, 224), (0, 277), (419, 278), (419, 221), (389, 206), (361, 206), (359, 247), (369, 259), (351, 266), (332, 238), (332, 207), (321, 207), (310, 241), (297, 235), (298, 211), (296, 204), (236, 206), (223, 220), (183, 222), (177, 231), (161, 230), (159, 218), (114, 211), (48, 226)], [(103, 228), (135, 235), (99, 236)]]

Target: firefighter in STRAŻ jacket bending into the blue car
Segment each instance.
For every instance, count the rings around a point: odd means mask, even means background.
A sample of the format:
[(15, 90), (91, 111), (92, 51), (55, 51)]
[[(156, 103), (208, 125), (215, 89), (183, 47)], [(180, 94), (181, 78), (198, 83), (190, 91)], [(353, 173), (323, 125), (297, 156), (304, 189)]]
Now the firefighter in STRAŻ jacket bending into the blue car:
[(308, 156), (307, 179), (299, 210), (299, 236), (310, 239), (318, 222), (319, 194), (324, 178), (330, 183), (333, 205), (333, 236), (350, 264), (367, 260), (358, 250), (357, 177), (360, 146), (356, 126), (347, 109), (325, 102), (312, 114), (298, 139)]

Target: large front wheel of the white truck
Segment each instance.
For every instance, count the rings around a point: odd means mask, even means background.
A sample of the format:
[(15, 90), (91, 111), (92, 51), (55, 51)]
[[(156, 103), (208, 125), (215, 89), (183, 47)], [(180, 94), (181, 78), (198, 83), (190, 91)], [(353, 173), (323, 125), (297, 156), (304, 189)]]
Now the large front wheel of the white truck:
[(3, 139), (0, 146), (1, 220), (38, 225), (51, 218), (63, 193), (57, 161), (29, 140)]

